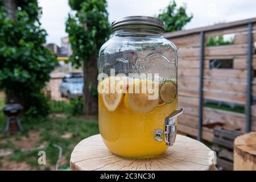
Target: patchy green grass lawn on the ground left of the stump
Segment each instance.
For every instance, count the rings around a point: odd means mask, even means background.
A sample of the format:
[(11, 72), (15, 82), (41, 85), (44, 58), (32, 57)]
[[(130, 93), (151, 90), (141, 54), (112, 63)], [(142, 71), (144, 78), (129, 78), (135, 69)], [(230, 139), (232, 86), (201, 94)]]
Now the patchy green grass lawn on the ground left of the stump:
[[(13, 150), (13, 154), (8, 158), (0, 158), (0, 169), (3, 162), (26, 162), (32, 169), (50, 170), (55, 168), (57, 159), (59, 158), (59, 149), (55, 145), (63, 149), (63, 156), (59, 168), (63, 170), (69, 169), (69, 160), (73, 148), (82, 139), (98, 134), (98, 122), (96, 119), (85, 119), (80, 116), (72, 116), (72, 105), (68, 102), (54, 101), (52, 105), (52, 113), (47, 118), (22, 118), (20, 119), (23, 132), (15, 135), (3, 136), (3, 127), (0, 127), (0, 148)], [(0, 108), (4, 105), (4, 100), (0, 98)], [(63, 111), (64, 109), (64, 111)], [(60, 113), (62, 111), (62, 113)], [(67, 114), (64, 114), (67, 113)], [(3, 113), (0, 113), (0, 126), (5, 123)], [(30, 150), (24, 151), (15, 145), (15, 143), (23, 142), (24, 138), (32, 138), (31, 131), (38, 133), (39, 137)], [(40, 148), (39, 148), (40, 146)], [(47, 165), (38, 164), (39, 151), (46, 152)]]

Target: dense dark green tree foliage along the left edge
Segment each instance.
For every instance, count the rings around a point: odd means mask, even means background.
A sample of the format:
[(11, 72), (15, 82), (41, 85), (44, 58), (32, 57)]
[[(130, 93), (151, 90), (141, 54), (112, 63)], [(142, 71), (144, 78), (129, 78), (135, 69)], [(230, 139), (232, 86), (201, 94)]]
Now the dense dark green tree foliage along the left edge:
[(19, 102), (27, 114), (46, 115), (42, 89), (56, 57), (43, 47), (47, 33), (41, 28), (37, 1), (15, 2), (15, 19), (0, 5), (0, 89), (5, 90), (7, 102)]

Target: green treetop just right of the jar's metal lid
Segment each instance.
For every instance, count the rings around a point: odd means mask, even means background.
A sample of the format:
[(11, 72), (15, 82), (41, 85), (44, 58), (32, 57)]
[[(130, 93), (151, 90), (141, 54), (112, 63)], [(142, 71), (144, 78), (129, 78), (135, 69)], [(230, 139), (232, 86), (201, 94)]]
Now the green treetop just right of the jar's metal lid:
[(186, 13), (186, 5), (177, 7), (175, 1), (171, 1), (169, 5), (157, 17), (164, 20), (166, 32), (181, 30), (185, 24), (191, 21), (193, 15)]

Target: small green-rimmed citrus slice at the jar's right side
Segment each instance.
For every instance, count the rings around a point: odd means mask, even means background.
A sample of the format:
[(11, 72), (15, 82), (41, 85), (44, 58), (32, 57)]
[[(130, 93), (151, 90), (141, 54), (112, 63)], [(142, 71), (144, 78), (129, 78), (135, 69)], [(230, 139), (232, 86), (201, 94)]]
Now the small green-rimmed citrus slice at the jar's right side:
[(160, 86), (159, 95), (163, 102), (170, 104), (175, 100), (177, 94), (177, 86), (174, 81), (167, 80), (164, 81)]

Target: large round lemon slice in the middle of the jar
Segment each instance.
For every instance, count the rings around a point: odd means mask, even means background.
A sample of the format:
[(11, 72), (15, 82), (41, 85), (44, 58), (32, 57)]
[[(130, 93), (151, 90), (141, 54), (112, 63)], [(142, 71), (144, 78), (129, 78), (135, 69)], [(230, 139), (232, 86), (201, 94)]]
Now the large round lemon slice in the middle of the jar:
[(142, 84), (148, 84), (147, 80), (135, 80), (133, 83), (133, 92), (139, 90), (139, 92), (129, 93), (131, 90), (127, 90), (128, 93), (125, 94), (125, 106), (130, 110), (138, 113), (148, 113), (153, 110), (158, 105), (159, 98), (155, 100), (149, 100), (148, 96), (150, 94), (147, 92), (143, 93)]

